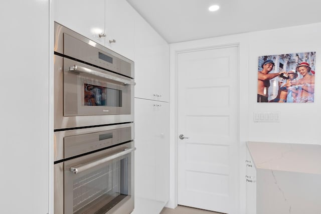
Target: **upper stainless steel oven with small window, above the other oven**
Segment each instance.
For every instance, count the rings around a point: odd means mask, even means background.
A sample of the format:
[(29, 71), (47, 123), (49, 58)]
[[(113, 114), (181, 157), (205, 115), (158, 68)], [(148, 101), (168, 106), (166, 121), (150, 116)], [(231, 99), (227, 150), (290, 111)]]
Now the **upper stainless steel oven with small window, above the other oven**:
[(133, 121), (131, 60), (55, 23), (54, 129)]

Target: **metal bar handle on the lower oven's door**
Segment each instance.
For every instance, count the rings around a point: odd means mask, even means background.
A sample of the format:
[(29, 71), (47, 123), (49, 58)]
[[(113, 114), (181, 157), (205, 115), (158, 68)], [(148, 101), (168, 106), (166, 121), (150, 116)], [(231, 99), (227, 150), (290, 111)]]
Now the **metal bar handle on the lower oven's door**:
[(100, 165), (102, 163), (106, 163), (106, 162), (108, 162), (110, 160), (113, 160), (113, 159), (115, 159), (117, 157), (121, 157), (123, 155), (126, 155), (126, 154), (128, 154), (130, 152), (133, 152), (134, 150), (136, 150), (135, 147), (134, 148), (126, 148), (123, 151), (118, 152), (118, 153), (113, 154), (113, 155), (110, 155), (108, 157), (104, 157), (104, 158), (95, 160), (95, 161), (90, 162), (90, 163), (80, 164), (80, 165), (77, 165), (77, 166), (74, 166), (74, 167), (70, 167), (70, 171), (75, 173), (75, 174), (77, 174), (77, 173), (80, 173), (80, 172), (85, 171), (87, 169), (90, 169), (90, 168), (93, 168), (95, 166), (98, 166), (98, 165)]

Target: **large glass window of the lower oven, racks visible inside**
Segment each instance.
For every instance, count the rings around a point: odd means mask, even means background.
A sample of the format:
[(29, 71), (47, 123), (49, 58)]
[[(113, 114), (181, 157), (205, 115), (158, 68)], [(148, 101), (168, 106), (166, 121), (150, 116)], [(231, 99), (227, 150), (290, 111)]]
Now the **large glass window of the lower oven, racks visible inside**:
[[(128, 158), (115, 160), (73, 181), (73, 213), (105, 213), (128, 195)], [(97, 211), (97, 209), (99, 209)]]

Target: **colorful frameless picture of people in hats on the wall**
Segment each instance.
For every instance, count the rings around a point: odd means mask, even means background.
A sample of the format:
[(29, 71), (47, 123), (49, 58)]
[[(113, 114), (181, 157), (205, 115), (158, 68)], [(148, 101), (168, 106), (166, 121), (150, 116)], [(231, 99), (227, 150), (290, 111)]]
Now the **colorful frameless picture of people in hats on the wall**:
[(257, 102), (313, 103), (315, 52), (261, 56)]

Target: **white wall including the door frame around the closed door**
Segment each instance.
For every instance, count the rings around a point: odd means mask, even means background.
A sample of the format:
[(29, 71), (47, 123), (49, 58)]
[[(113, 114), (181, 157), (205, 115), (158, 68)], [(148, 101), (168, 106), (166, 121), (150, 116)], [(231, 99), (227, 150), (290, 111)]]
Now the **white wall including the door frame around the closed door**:
[[(318, 122), (321, 118), (321, 23), (291, 28), (237, 34), (204, 40), (171, 44), (171, 97), (170, 97), (170, 140), (171, 171), (170, 201), (175, 207), (176, 196), (176, 52), (180, 50), (239, 44), (240, 46), (240, 205), (239, 213), (245, 213), (245, 151), (246, 141), (268, 141), (284, 143), (321, 144)], [(257, 103), (257, 61), (259, 56), (297, 52), (316, 52), (316, 74), (314, 103)], [(320, 74), (318, 74), (320, 73)], [(254, 112), (279, 112), (278, 123), (255, 123)]]

